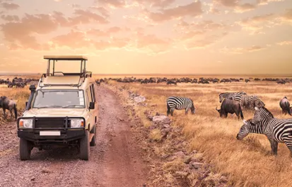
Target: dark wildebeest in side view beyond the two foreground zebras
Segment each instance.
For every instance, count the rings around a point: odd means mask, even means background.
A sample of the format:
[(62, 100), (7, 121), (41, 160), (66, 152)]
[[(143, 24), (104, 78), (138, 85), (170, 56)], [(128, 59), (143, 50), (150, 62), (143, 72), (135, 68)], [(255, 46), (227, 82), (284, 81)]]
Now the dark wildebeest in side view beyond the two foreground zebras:
[(216, 111), (220, 113), (221, 118), (223, 117), (227, 118), (228, 113), (230, 114), (235, 113), (238, 116), (238, 120), (239, 120), (239, 117), (243, 119), (243, 111), (241, 110), (240, 103), (232, 99), (224, 98), (221, 103), (221, 108), (218, 110), (216, 107)]

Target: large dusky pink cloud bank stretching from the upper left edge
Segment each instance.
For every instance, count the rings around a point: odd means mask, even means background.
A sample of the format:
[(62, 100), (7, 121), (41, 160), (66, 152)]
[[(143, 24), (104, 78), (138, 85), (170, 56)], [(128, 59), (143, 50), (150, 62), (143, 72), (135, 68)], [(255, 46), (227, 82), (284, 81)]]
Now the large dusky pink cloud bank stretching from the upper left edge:
[[(11, 19), (17, 17), (1, 16), (3, 19)], [(92, 13), (90, 11), (76, 9), (74, 16), (66, 18), (64, 13), (54, 11), (52, 14), (25, 14), (18, 22), (7, 22), (1, 24), (1, 30), (4, 34), (4, 40), (12, 49), (31, 48), (40, 50), (41, 45), (37, 43), (35, 35), (45, 35), (57, 30), (60, 26), (72, 27), (86, 23), (108, 23), (107, 18)], [(46, 46), (47, 48), (47, 46)]]

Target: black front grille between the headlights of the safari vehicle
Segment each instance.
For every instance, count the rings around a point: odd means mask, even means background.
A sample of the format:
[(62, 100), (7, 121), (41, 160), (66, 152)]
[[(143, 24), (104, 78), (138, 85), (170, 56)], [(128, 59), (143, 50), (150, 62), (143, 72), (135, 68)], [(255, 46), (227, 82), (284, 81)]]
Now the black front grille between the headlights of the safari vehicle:
[[(68, 128), (70, 122), (68, 120)], [(35, 128), (66, 128), (64, 118), (35, 118)]]

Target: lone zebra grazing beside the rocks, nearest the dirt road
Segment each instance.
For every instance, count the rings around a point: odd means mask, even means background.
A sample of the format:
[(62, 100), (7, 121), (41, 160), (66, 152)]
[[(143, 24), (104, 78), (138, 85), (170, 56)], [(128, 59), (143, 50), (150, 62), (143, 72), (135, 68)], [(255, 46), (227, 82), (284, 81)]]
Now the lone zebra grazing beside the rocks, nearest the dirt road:
[(170, 96), (166, 104), (168, 106), (167, 114), (171, 114), (173, 116), (173, 111), (175, 109), (182, 110), (185, 109), (185, 114), (189, 111), (189, 109), (192, 111), (192, 114), (194, 114), (195, 108), (194, 103), (191, 98), (182, 98), (177, 96)]

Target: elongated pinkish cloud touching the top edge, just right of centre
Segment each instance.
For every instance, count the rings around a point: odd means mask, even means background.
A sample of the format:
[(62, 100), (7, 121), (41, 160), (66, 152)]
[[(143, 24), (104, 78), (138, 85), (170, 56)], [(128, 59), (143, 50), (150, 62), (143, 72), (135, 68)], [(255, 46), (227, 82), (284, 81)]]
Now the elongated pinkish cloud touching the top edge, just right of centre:
[(151, 21), (163, 22), (185, 16), (197, 17), (203, 13), (203, 10), (201, 1), (195, 1), (175, 8), (162, 9), (160, 12), (146, 11), (145, 13)]

